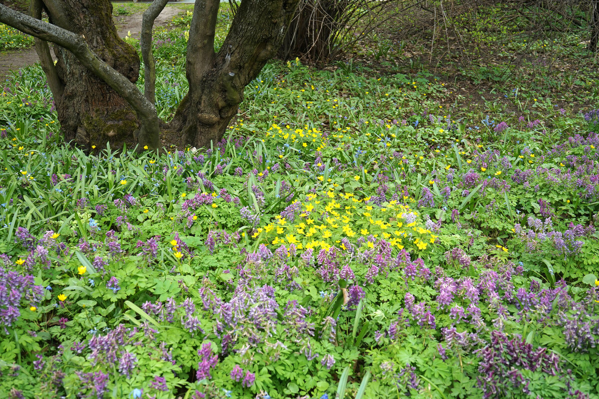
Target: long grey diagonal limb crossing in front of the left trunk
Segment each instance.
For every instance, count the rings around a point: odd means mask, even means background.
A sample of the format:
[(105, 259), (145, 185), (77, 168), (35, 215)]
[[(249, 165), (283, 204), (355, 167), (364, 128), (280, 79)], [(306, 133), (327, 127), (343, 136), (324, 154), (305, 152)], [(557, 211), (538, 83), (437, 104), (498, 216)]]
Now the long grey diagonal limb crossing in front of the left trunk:
[(1, 4), (0, 22), (71, 51), (83, 66), (112, 87), (133, 108), (141, 123), (138, 143), (142, 147), (147, 145), (149, 148), (158, 148), (160, 130), (155, 106), (144, 97), (134, 83), (98, 57), (89, 48), (83, 36), (26, 16)]

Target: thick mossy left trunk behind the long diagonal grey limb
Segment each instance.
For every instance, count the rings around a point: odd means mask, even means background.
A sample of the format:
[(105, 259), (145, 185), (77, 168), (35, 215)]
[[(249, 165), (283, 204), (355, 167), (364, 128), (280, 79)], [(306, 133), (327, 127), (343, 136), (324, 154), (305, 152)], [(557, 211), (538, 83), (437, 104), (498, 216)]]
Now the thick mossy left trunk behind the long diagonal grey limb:
[[(89, 47), (108, 65), (135, 82), (139, 76), (137, 51), (119, 38), (108, 0), (44, 0), (50, 22), (82, 35)], [(135, 144), (139, 122), (125, 99), (85, 68), (68, 50), (56, 45), (56, 72), (63, 83), (55, 98), (65, 141), (90, 148)]]

